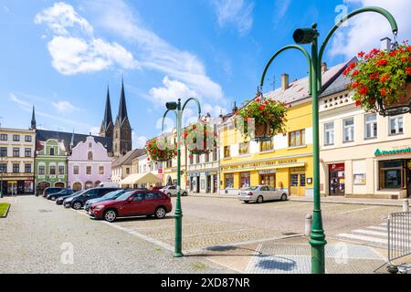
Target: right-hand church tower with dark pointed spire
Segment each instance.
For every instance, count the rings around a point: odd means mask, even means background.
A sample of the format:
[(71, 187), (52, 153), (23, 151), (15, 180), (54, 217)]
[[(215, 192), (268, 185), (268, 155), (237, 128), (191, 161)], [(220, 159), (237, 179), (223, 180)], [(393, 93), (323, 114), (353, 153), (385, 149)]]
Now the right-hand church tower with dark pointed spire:
[(132, 126), (127, 116), (127, 106), (124, 94), (124, 81), (121, 80), (121, 96), (119, 113), (114, 124), (113, 151), (119, 157), (132, 150)]

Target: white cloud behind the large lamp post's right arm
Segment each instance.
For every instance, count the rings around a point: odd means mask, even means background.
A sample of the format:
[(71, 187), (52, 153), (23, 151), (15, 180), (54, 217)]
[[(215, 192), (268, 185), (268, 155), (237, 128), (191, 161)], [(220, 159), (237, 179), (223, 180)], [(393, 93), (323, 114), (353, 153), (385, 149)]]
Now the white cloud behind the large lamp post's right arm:
[[(380, 6), (391, 12), (395, 17), (399, 31), (398, 39), (411, 36), (409, 21), (409, 0), (344, 0), (345, 5)], [(353, 9), (349, 9), (351, 11)], [(346, 58), (355, 56), (362, 50), (380, 47), (380, 39), (388, 36), (393, 38), (391, 26), (384, 16), (376, 13), (364, 13), (348, 20), (348, 26), (340, 27), (329, 44), (331, 57), (342, 55)]]

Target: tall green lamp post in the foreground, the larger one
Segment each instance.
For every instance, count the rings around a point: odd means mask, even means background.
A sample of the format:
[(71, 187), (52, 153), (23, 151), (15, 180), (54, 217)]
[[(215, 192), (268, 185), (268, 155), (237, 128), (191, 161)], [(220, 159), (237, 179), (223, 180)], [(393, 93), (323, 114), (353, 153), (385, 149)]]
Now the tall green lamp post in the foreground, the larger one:
[[(364, 7), (361, 9), (354, 10), (352, 13), (344, 16), (339, 23), (332, 27), (332, 30), (325, 37), (320, 51), (318, 48), (318, 37), (320, 36), (317, 30), (317, 24), (313, 24), (308, 28), (299, 28), (294, 32), (293, 39), (298, 45), (290, 45), (282, 47), (277, 51), (273, 57), (269, 59), (269, 63), (263, 71), (261, 81), (260, 81), (260, 90), (264, 85), (264, 79), (266, 77), (269, 66), (274, 61), (274, 59), (279, 56), (279, 54), (285, 50), (297, 49), (299, 50), (308, 61), (309, 65), (309, 91), (312, 99), (312, 160), (313, 160), (313, 213), (312, 213), (312, 225), (311, 225), (311, 273), (312, 274), (324, 274), (325, 273), (325, 256), (324, 256), (324, 247), (327, 244), (325, 240), (324, 230), (322, 228), (322, 216), (321, 216), (321, 195), (320, 195), (320, 141), (319, 141), (319, 105), (318, 105), (318, 96), (321, 93), (321, 60), (331, 36), (333, 33), (345, 22), (347, 19), (356, 16), (364, 12), (375, 12), (388, 20), (391, 25), (393, 34), (395, 36), (398, 32), (398, 26), (396, 25), (395, 18), (388, 11), (381, 7)], [(311, 55), (308, 51), (301, 47), (300, 45), (311, 44)]]

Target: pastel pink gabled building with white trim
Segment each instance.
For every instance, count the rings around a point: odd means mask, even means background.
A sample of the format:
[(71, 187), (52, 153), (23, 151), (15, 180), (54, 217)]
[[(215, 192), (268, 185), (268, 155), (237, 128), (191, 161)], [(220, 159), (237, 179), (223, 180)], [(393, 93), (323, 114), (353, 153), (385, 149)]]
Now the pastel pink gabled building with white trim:
[(111, 182), (112, 158), (100, 142), (89, 136), (73, 146), (68, 156), (68, 187), (78, 191)]

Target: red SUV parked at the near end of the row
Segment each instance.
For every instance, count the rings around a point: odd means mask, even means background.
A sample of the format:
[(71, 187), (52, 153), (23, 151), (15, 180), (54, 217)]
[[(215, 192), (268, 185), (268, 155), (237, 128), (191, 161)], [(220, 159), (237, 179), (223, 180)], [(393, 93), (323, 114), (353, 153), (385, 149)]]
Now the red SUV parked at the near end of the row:
[(89, 215), (96, 219), (113, 222), (118, 217), (154, 215), (163, 219), (173, 210), (171, 199), (164, 193), (156, 191), (129, 191), (115, 200), (93, 203)]

